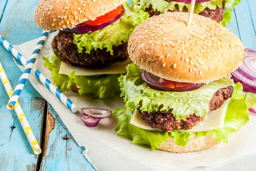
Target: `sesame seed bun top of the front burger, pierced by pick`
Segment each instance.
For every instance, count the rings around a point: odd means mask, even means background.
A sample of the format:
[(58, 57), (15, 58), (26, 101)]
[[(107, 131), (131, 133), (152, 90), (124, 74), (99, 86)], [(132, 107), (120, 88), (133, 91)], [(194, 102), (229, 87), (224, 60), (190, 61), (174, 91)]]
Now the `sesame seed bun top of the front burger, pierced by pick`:
[(128, 41), (131, 60), (155, 76), (176, 82), (223, 78), (242, 63), (242, 42), (214, 20), (168, 12), (138, 25)]

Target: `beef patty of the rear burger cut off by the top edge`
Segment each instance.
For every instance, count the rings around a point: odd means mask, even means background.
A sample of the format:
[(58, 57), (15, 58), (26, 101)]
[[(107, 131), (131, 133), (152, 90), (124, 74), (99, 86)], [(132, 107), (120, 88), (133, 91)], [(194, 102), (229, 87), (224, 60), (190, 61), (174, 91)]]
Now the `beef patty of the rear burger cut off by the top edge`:
[[(168, 0), (167, 0), (168, 1)], [(216, 9), (214, 10), (211, 10), (209, 8), (206, 8), (204, 9), (203, 11), (201, 11), (200, 13), (198, 13), (199, 15), (201, 16), (204, 16), (204, 17), (208, 17), (208, 18), (211, 18), (212, 20), (215, 20), (216, 22), (220, 23), (224, 17), (224, 11), (226, 9), (225, 7), (225, 1), (222, 2), (222, 8), (220, 7), (217, 7)], [(145, 9), (146, 12), (149, 13), (149, 16), (152, 17), (152, 16), (157, 16), (160, 14), (159, 11), (154, 11), (154, 9), (152, 9), (152, 5), (150, 4), (150, 6), (148, 8)], [(179, 11), (179, 6), (177, 4), (175, 4), (175, 9), (173, 11), (171, 10), (168, 10), (168, 12), (177, 12)], [(188, 8), (184, 6), (183, 12), (188, 12)]]

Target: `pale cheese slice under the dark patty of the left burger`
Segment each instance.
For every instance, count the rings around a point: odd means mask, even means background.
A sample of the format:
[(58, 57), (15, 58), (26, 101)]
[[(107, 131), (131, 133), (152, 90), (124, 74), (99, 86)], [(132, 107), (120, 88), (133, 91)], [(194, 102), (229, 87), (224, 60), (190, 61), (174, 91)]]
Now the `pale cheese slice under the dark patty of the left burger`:
[(70, 72), (75, 71), (76, 76), (127, 73), (126, 66), (130, 63), (132, 63), (132, 61), (128, 58), (128, 60), (124, 62), (115, 62), (102, 69), (90, 69), (82, 66), (71, 65), (67, 62), (61, 62), (61, 67), (58, 73), (69, 75)]

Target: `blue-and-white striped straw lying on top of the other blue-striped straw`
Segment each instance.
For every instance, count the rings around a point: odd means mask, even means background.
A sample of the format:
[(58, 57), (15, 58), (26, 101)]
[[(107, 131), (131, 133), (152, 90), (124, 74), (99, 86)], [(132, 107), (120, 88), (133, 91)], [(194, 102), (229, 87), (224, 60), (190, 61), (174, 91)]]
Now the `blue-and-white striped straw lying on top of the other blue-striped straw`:
[(7, 104), (7, 108), (8, 109), (13, 109), (16, 101), (18, 101), (18, 98), (20, 96), (20, 93), (29, 77), (29, 73), (36, 61), (36, 58), (38, 57), (38, 54), (40, 52), (40, 50), (43, 47), (43, 44), (45, 43), (45, 40), (48, 36), (49, 31), (43, 31), (41, 37), (39, 38), (36, 47), (32, 53), (32, 55), (30, 56), (24, 71), (22, 72), (22, 75), (20, 76), (20, 79), (18, 81), (18, 84), (16, 85), (13, 94), (11, 95), (11, 98), (9, 99), (9, 102)]

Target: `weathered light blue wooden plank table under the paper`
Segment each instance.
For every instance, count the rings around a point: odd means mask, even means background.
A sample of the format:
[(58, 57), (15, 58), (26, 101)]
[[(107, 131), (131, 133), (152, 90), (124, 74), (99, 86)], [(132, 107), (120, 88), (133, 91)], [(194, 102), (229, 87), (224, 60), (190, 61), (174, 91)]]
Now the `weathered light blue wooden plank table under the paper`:
[[(34, 10), (39, 0), (0, 0), (0, 35), (11, 44), (21, 44), (38, 38), (42, 32), (34, 22)], [(233, 12), (228, 28), (240, 38), (245, 47), (256, 49), (256, 1), (241, 0)], [(0, 46), (0, 61), (9, 81), (15, 87), (21, 71), (16, 67), (8, 51)], [(38, 140), (42, 153), (35, 155), (22, 130), (15, 111), (6, 108), (9, 98), (0, 84), (0, 171), (34, 170), (95, 170), (83, 156), (83, 149), (58, 117), (52, 106), (26, 82), (19, 101), (27, 120)], [(231, 160), (204, 170), (228, 169), (240, 163), (247, 164), (246, 157)], [(256, 158), (256, 154), (250, 154)], [(107, 167), (107, 166), (106, 166)], [(240, 167), (241, 168), (241, 167)]]

